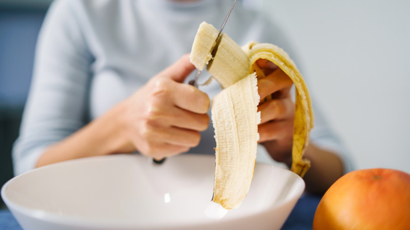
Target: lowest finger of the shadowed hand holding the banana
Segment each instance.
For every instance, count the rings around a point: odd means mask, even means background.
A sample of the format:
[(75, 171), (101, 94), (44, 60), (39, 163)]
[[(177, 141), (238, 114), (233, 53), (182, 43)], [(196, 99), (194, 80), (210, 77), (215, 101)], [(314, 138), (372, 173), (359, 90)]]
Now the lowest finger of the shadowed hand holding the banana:
[(264, 123), (258, 126), (259, 143), (289, 139), (293, 136), (293, 120), (280, 120)]

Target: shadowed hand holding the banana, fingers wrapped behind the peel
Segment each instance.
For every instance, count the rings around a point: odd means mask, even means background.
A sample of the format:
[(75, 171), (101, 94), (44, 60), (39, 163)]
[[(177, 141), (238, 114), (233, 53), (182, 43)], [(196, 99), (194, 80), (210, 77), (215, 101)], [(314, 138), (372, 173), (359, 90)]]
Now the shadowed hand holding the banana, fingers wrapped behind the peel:
[[(258, 80), (261, 98), (258, 111), (261, 123), (258, 126), (261, 143), (278, 162), (292, 163), (293, 120), (295, 105), (291, 98), (292, 80), (274, 63), (259, 59), (256, 64), (266, 77)], [(271, 95), (272, 100), (263, 99)]]

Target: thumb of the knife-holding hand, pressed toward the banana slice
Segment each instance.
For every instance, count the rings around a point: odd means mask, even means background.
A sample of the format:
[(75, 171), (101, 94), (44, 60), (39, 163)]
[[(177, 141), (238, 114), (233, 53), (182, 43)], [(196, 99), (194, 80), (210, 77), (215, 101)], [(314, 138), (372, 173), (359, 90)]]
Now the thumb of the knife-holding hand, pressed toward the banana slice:
[(189, 56), (190, 54), (183, 55), (179, 60), (159, 73), (159, 75), (182, 83), (195, 70), (195, 66), (191, 64)]

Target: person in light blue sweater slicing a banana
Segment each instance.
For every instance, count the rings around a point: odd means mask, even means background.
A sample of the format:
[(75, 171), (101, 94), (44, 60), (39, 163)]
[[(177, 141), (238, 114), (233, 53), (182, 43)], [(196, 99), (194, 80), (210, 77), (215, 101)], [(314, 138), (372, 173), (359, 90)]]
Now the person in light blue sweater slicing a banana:
[[(195, 88), (189, 52), (200, 22), (218, 27), (232, 5), (220, 0), (52, 3), (40, 30), (32, 85), (13, 148), (15, 174), (64, 160), (139, 152), (160, 159), (214, 154), (209, 119), (213, 81)], [(224, 28), (238, 44), (278, 45), (295, 57), (279, 27), (237, 4)], [(272, 63), (260, 60), (272, 71)], [(279, 72), (278, 72), (279, 73)], [(202, 74), (199, 81), (204, 81)], [(258, 83), (260, 84), (260, 82)], [(275, 85), (282, 87), (275, 89)], [(294, 102), (286, 78), (265, 81), (260, 144), (291, 164)], [(314, 104), (315, 105), (315, 104)], [(317, 108), (306, 189), (324, 192), (348, 170), (343, 147)], [(347, 164), (346, 164), (347, 163)]]

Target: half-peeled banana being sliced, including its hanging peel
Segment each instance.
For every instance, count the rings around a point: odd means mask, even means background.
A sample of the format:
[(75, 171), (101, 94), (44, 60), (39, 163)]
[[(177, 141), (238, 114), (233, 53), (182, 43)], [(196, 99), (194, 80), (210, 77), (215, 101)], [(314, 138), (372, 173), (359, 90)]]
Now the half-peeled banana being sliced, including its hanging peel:
[[(202, 22), (191, 50), (191, 62), (208, 72), (223, 90), (212, 101), (215, 129), (215, 182), (213, 201), (225, 209), (237, 208), (249, 191), (256, 159), (260, 112), (257, 79), (263, 71), (258, 59), (268, 59), (279, 66), (296, 87), (291, 170), (301, 177), (310, 168), (303, 159), (313, 128), (312, 102), (308, 88), (295, 63), (282, 49), (269, 43), (249, 42), (239, 47), (227, 34)], [(215, 36), (216, 35), (216, 36)], [(216, 43), (215, 43), (216, 42)], [(216, 48), (212, 51), (212, 47)], [(268, 96), (264, 100), (270, 100)]]

